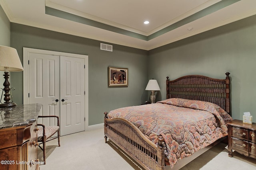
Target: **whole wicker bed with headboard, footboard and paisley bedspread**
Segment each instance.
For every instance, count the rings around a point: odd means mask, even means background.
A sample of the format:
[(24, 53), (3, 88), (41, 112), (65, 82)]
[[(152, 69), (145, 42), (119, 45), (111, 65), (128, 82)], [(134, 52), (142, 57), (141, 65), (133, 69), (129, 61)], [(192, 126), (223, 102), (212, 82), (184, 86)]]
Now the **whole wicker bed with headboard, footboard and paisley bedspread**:
[(105, 143), (109, 138), (145, 169), (184, 166), (228, 135), (229, 74), (166, 77), (166, 100), (104, 113)]

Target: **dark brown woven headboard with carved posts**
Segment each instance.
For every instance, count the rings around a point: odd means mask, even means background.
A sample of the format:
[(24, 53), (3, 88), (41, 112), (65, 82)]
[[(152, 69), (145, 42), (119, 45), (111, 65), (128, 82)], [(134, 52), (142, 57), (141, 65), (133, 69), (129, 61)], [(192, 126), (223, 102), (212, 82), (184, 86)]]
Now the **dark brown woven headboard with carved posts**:
[(169, 80), (166, 77), (166, 98), (183, 98), (212, 102), (230, 113), (230, 79), (216, 79), (200, 75), (190, 75)]

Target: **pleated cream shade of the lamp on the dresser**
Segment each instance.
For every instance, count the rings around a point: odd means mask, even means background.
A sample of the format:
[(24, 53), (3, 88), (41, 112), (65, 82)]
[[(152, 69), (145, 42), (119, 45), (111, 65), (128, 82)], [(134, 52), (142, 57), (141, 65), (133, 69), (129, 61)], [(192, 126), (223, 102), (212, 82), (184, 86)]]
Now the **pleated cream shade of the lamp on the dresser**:
[(23, 67), (17, 50), (12, 47), (0, 45), (0, 70), (22, 71)]

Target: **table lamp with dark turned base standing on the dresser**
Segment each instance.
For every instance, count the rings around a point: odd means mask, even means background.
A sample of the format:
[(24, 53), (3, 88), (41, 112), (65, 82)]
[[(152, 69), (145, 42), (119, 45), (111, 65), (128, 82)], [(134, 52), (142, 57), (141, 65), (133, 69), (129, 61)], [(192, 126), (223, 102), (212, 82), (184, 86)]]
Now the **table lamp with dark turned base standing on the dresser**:
[[(4, 88), (2, 89), (4, 93), (4, 103), (2, 100), (0, 101), (0, 107), (15, 107), (17, 106), (13, 103), (13, 100), (10, 102), (10, 82), (8, 81), (9, 78), (9, 71), (22, 71), (23, 67), (20, 62), (20, 58), (18, 56), (17, 50), (12, 47), (6, 47), (0, 45), (0, 70), (4, 71)], [(12, 97), (12, 96), (11, 96)], [(2, 99), (2, 96), (1, 96)]]

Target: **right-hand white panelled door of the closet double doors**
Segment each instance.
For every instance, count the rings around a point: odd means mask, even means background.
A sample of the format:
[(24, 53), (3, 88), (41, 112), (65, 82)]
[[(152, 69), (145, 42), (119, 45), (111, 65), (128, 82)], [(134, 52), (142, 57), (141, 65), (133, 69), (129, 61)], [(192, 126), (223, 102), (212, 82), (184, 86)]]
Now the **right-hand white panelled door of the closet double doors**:
[(85, 130), (84, 59), (60, 56), (60, 134)]

